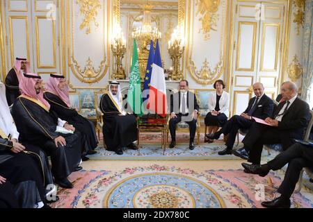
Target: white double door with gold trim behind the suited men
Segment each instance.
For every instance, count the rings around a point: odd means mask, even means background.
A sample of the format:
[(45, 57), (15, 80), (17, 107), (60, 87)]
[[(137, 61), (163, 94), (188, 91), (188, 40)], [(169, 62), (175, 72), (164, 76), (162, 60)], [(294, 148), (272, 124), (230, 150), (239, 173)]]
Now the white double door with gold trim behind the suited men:
[(272, 99), (282, 76), (287, 1), (234, 1), (232, 114), (243, 112), (261, 82)]

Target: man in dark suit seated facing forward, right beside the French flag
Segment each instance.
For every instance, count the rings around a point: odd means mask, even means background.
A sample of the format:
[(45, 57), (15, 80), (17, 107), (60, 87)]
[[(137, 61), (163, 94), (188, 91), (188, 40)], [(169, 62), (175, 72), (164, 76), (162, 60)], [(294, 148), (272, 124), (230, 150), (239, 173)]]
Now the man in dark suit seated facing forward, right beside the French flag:
[(170, 137), (172, 142), (170, 148), (176, 145), (176, 124), (184, 121), (189, 126), (190, 142), (189, 148), (193, 150), (193, 139), (197, 128), (199, 105), (195, 94), (188, 91), (188, 81), (182, 80), (179, 83), (179, 92), (173, 94), (170, 98)]

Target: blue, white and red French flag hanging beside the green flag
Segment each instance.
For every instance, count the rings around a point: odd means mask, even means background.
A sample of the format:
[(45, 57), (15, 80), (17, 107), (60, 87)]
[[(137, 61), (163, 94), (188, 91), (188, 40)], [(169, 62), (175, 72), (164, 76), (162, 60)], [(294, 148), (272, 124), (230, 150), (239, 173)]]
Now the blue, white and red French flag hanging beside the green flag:
[(168, 110), (166, 101), (166, 81), (162, 67), (159, 40), (157, 40), (157, 46), (154, 53), (149, 94), (149, 109), (153, 110), (161, 117), (166, 117), (166, 112)]

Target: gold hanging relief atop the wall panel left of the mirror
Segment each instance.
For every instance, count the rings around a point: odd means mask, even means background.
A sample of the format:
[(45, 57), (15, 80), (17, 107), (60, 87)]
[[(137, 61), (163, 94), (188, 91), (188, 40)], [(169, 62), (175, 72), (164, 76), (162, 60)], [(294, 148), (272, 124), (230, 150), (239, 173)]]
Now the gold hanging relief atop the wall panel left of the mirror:
[(99, 0), (77, 0), (80, 6), (81, 15), (84, 16), (83, 22), (79, 26), (81, 30), (86, 29), (86, 34), (91, 33), (91, 23), (95, 24), (95, 27), (99, 27), (99, 23), (96, 21), (98, 10), (102, 8)]

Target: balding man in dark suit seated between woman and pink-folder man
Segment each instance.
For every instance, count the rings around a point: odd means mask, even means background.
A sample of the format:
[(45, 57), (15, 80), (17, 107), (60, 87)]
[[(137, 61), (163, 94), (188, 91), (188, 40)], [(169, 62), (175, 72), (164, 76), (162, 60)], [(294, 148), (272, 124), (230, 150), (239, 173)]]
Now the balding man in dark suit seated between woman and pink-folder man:
[(219, 155), (232, 153), (232, 147), (234, 146), (238, 130), (248, 130), (253, 122), (252, 117), (266, 119), (273, 114), (273, 101), (264, 94), (264, 86), (262, 83), (255, 83), (253, 85), (253, 92), (255, 93), (255, 97), (250, 99), (248, 108), (240, 116), (234, 115), (218, 132), (206, 135), (209, 139), (218, 139), (222, 133), (228, 135), (225, 144), (227, 147), (223, 151), (219, 151)]

